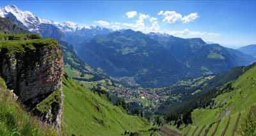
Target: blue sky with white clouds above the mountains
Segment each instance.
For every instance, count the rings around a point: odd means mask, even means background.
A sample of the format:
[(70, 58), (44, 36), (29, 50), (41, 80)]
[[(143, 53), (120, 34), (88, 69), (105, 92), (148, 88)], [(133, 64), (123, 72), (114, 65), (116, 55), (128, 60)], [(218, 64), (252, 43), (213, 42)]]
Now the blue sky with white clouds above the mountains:
[[(56, 22), (202, 37), (233, 48), (256, 43), (254, 1), (1, 1), (0, 6), (7, 4)], [(136, 15), (128, 18), (128, 11)]]

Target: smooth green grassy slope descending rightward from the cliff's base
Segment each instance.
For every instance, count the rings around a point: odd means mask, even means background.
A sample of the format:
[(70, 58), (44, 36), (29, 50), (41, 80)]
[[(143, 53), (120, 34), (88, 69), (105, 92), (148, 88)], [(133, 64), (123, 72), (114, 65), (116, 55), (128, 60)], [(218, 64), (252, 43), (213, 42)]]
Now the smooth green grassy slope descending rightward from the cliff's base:
[(63, 133), (70, 135), (121, 135), (147, 129), (138, 116), (130, 116), (70, 78), (63, 78), (65, 94)]

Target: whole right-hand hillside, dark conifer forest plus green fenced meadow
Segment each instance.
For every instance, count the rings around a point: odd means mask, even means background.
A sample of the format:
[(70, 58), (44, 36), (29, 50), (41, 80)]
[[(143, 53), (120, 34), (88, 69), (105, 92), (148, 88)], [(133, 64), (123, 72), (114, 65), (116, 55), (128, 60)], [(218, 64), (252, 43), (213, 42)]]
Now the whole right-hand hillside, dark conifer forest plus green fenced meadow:
[(255, 74), (253, 64), (213, 78), (215, 82), (210, 81), (204, 92), (167, 107), (166, 121), (187, 135), (253, 135)]

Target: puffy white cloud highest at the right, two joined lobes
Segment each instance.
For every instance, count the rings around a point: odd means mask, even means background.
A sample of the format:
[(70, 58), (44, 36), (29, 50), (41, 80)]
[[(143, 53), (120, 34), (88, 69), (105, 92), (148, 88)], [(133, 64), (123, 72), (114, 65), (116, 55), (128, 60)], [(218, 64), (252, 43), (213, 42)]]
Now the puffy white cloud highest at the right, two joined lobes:
[(168, 22), (170, 24), (173, 24), (179, 21), (184, 23), (189, 23), (199, 17), (198, 13), (190, 13), (189, 15), (182, 17), (180, 13), (177, 13), (176, 11), (168, 11), (168, 10), (159, 11), (157, 15), (163, 16), (163, 22)]

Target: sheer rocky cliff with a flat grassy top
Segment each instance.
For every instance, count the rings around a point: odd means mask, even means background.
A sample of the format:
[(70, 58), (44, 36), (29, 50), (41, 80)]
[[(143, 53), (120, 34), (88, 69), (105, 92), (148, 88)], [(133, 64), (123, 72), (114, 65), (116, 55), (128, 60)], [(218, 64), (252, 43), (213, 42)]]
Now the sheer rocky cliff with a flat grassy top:
[(0, 41), (0, 76), (29, 111), (43, 121), (56, 123), (63, 100), (63, 57), (58, 41), (16, 37), (19, 40)]

